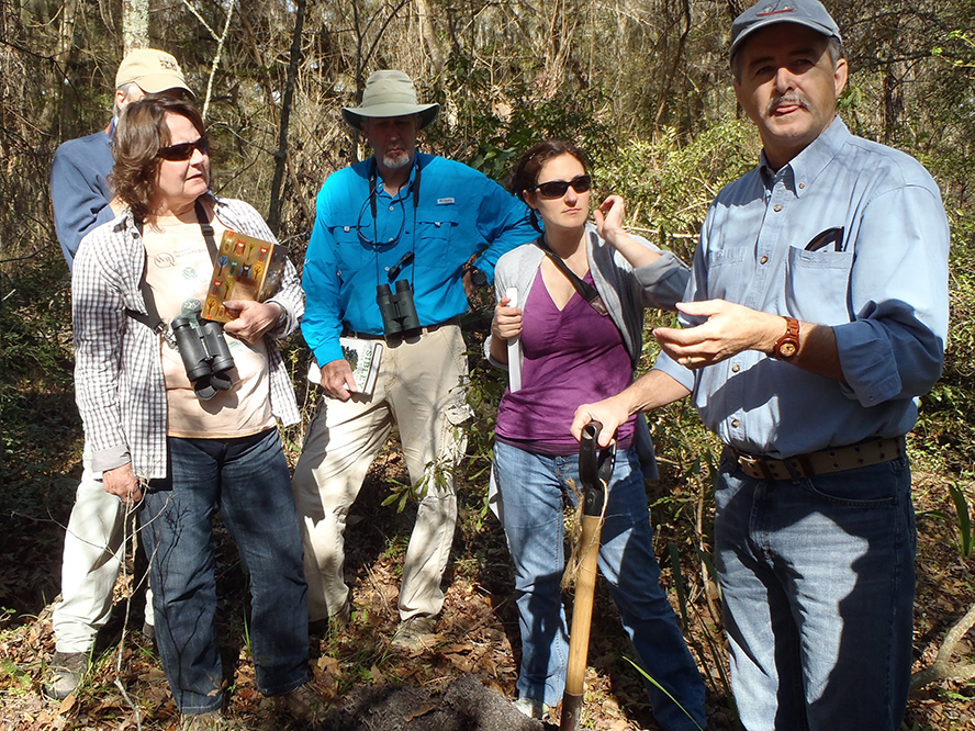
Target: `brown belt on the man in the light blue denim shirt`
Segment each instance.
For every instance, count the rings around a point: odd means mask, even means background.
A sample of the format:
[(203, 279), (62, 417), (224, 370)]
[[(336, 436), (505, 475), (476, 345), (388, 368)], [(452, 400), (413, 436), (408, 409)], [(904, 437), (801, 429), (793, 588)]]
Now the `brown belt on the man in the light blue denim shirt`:
[(729, 447), (742, 472), (757, 480), (795, 480), (815, 474), (842, 472), (870, 464), (889, 462), (907, 452), (904, 437), (867, 439), (850, 447), (823, 449), (809, 454), (796, 454), (784, 460), (755, 457)]

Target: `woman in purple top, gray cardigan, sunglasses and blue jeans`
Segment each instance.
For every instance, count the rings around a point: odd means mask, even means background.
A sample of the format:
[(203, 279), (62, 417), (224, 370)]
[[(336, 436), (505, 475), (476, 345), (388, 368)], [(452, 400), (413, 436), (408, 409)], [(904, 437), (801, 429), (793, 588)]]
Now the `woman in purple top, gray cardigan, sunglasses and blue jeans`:
[[(516, 705), (536, 718), (561, 700), (565, 682), (563, 511), (567, 502), (575, 503), (570, 483), (579, 483), (572, 416), (580, 404), (632, 381), (643, 307), (673, 310), (687, 281), (686, 267), (672, 254), (623, 229), (618, 195), (593, 212), (595, 225), (589, 223), (591, 187), (585, 156), (564, 142), (536, 145), (516, 164), (512, 191), (536, 223), (541, 218), (545, 233), (498, 260), (498, 304), (485, 344), (498, 367), (507, 364), (508, 340), (517, 336), (520, 344), (522, 385), (501, 401), (492, 480), (515, 562), (522, 631)], [(511, 288), (523, 306), (509, 306)], [(704, 685), (660, 587), (651, 546), (643, 475), (655, 477), (657, 470), (646, 420), (630, 419), (617, 438), (599, 569), (640, 665), (666, 689), (648, 684), (657, 720), (669, 731), (705, 728)]]

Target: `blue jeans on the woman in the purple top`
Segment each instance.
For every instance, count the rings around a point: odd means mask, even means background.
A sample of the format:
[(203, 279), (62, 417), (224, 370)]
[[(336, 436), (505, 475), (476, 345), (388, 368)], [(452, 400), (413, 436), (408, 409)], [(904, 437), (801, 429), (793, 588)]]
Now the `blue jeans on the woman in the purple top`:
[[(518, 695), (554, 706), (562, 699), (569, 637), (560, 582), (564, 501), (576, 503), (579, 456), (548, 457), (496, 442), (494, 470), (504, 503), (504, 532), (515, 563), (522, 630)], [(668, 731), (707, 726), (704, 683), (660, 587), (650, 511), (635, 450), (617, 454), (599, 547), (599, 571), (609, 583), (640, 666), (677, 699), (647, 684), (653, 716)], [(695, 724), (695, 721), (697, 724)]]

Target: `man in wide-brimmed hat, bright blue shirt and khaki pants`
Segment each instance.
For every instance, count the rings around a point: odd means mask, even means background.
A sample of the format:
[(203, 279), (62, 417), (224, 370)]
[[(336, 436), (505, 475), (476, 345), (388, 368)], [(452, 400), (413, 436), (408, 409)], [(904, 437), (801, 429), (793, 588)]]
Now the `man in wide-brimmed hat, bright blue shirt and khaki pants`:
[[(393, 646), (411, 650), (444, 604), (440, 578), (457, 520), (453, 470), (470, 417), (458, 316), (472, 282), (492, 280), (502, 254), (537, 236), (524, 204), (497, 183), (417, 153), (417, 133), (439, 109), (417, 103), (410, 78), (390, 70), (369, 77), (360, 106), (343, 109), (373, 156), (322, 187), (303, 273), (302, 333), (325, 392), (294, 471), (310, 619), (348, 621), (346, 516), (395, 424), (421, 496), (393, 638)], [(377, 341), (379, 374), (362, 393), (345, 353)]]

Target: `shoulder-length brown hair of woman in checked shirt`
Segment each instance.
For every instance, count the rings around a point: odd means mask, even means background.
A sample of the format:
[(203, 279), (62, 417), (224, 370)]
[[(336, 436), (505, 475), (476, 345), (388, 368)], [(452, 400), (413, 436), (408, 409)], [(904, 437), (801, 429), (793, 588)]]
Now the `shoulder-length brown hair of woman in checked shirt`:
[(172, 142), (167, 114), (187, 117), (204, 135), (203, 117), (197, 108), (180, 99), (146, 97), (125, 105), (112, 144), (115, 167), (109, 179), (113, 193), (145, 221), (156, 192), (159, 150)]

